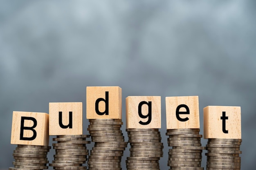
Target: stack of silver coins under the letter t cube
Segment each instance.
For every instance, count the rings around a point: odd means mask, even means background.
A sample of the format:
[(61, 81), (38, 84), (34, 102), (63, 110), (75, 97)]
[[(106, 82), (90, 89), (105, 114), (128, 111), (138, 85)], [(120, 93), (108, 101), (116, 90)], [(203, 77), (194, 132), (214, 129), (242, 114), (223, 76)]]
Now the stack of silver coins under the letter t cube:
[(206, 148), (207, 170), (240, 170), (239, 154), (242, 139), (208, 139)]

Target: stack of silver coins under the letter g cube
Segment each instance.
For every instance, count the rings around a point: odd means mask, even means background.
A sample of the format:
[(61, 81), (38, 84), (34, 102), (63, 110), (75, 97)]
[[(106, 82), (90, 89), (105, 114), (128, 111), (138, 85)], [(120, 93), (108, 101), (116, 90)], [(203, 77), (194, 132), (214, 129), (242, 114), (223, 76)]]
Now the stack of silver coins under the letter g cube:
[(126, 129), (130, 143), (130, 157), (126, 159), (127, 170), (159, 170), (163, 157), (163, 143), (158, 129)]

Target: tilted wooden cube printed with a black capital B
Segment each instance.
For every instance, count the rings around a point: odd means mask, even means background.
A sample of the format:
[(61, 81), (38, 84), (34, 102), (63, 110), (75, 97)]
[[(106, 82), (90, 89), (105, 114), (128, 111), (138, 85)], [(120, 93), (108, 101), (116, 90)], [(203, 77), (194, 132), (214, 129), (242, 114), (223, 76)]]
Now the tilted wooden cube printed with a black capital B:
[(11, 144), (48, 146), (49, 115), (13, 111)]

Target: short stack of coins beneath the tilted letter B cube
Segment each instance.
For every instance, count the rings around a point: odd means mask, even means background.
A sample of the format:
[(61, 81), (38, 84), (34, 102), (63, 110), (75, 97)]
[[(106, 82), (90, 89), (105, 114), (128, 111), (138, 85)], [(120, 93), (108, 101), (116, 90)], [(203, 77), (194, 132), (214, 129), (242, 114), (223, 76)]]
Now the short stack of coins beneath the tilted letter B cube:
[(47, 152), (50, 148), (50, 146), (18, 145), (16, 150), (13, 150), (14, 167), (10, 167), (9, 170), (48, 169)]

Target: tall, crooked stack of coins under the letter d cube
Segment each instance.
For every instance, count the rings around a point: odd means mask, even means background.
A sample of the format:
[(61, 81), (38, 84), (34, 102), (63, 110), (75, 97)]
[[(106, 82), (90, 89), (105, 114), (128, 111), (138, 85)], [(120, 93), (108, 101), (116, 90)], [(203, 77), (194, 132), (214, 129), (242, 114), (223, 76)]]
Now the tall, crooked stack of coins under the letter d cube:
[(121, 158), (127, 147), (121, 119), (89, 119), (94, 147), (90, 151), (89, 170), (121, 170)]

